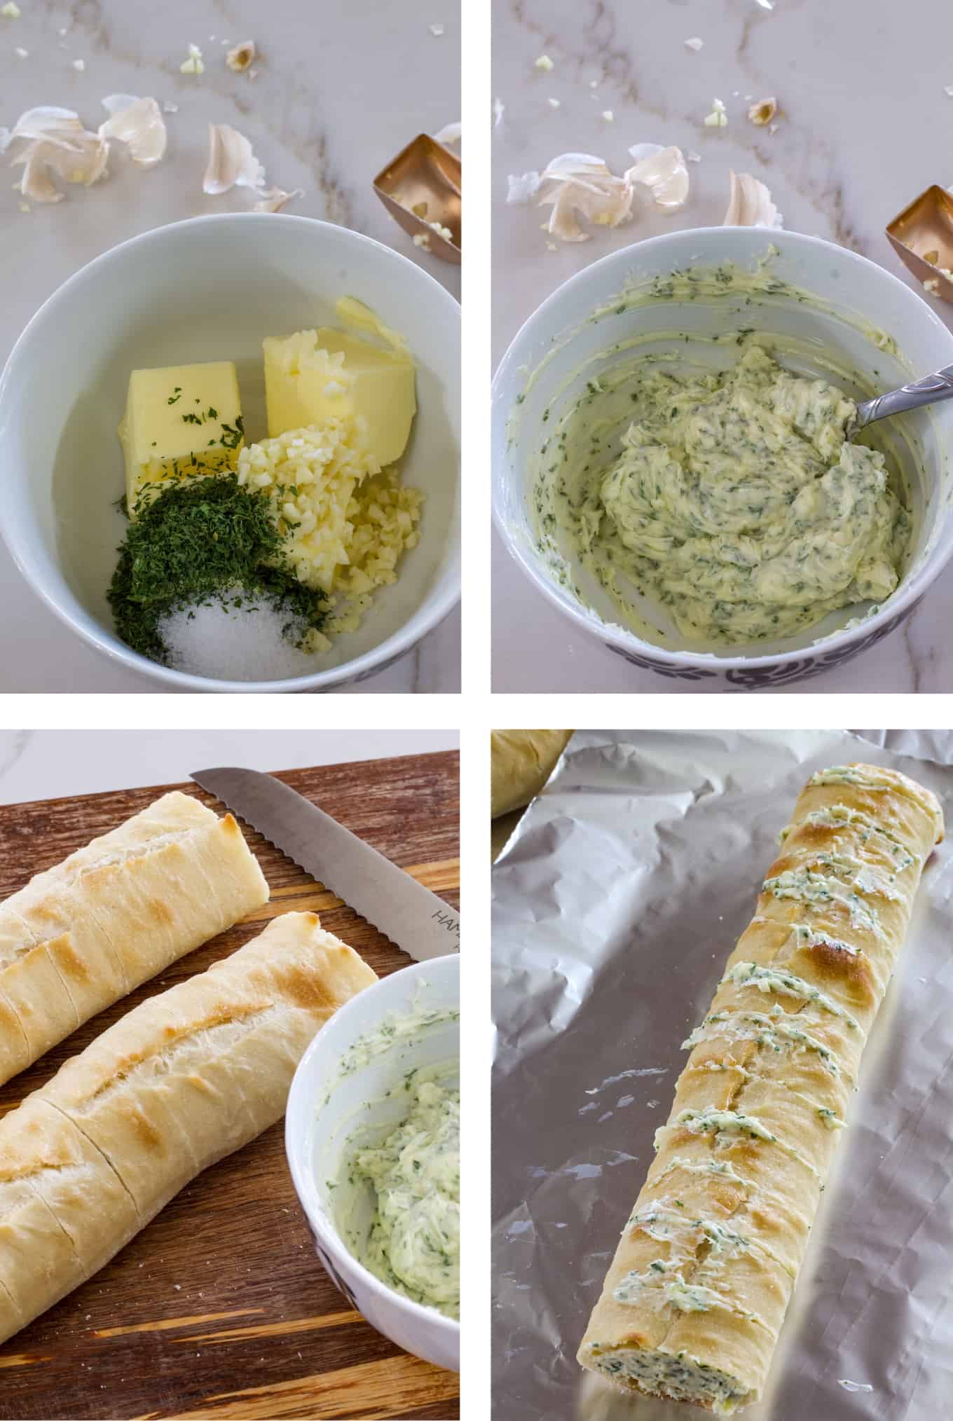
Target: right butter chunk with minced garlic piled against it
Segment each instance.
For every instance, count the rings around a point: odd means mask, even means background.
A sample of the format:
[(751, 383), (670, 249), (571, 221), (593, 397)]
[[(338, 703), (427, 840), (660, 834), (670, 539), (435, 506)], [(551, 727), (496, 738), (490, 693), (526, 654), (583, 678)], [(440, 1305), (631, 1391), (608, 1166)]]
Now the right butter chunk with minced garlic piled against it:
[(271, 438), (331, 416), (361, 415), (371, 458), (383, 468), (403, 453), (416, 414), (413, 357), (322, 327), (264, 341)]

